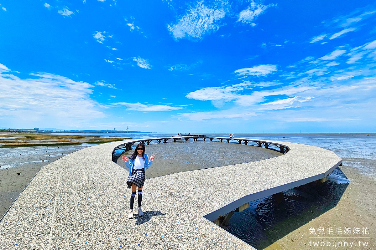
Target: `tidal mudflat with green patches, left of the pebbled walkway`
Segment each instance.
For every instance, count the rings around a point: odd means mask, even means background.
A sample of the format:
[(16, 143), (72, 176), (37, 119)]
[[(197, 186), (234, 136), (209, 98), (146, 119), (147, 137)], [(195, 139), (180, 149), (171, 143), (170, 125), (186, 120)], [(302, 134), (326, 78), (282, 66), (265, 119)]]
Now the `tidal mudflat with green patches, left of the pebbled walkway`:
[(82, 148), (124, 139), (129, 139), (124, 133), (0, 133), (0, 218), (41, 167)]

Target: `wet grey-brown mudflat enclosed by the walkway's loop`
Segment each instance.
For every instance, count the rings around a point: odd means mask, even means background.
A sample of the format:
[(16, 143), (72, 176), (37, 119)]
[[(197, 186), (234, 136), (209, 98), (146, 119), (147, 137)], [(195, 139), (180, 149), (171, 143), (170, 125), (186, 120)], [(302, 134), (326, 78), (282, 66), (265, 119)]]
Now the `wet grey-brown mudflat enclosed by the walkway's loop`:
[[(153, 165), (146, 171), (146, 179), (190, 170), (207, 169), (283, 155), (280, 152), (256, 146), (223, 142), (171, 142), (146, 146), (146, 154), (155, 154)], [(126, 152), (127, 157), (133, 150)], [(125, 168), (121, 157), (117, 164)]]

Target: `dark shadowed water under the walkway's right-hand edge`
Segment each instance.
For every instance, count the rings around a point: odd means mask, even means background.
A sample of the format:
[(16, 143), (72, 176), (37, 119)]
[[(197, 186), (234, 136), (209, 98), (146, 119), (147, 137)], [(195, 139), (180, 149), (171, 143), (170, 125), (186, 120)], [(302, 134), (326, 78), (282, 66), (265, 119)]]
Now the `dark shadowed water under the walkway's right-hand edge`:
[(324, 183), (311, 182), (274, 198), (250, 202), (249, 208), (232, 215), (226, 230), (256, 249), (264, 249), (334, 208), (349, 183), (337, 167)]

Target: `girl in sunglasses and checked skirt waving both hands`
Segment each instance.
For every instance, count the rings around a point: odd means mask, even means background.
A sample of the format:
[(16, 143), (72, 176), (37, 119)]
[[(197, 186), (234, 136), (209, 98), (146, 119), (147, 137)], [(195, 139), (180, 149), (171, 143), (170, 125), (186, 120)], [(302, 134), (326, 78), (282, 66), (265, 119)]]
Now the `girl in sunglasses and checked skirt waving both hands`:
[(154, 155), (149, 157), (145, 154), (145, 145), (143, 143), (138, 143), (135, 148), (135, 152), (128, 158), (123, 155), (121, 160), (124, 161), (125, 166), (129, 168), (129, 176), (127, 180), (128, 188), (132, 187), (132, 194), (130, 195), (130, 210), (128, 213), (128, 218), (133, 218), (133, 203), (135, 202), (136, 196), (136, 186), (138, 187), (138, 216), (143, 216), (144, 212), (141, 209), (142, 201), (142, 188), (144, 187), (145, 182), (145, 169), (148, 169), (152, 166)]

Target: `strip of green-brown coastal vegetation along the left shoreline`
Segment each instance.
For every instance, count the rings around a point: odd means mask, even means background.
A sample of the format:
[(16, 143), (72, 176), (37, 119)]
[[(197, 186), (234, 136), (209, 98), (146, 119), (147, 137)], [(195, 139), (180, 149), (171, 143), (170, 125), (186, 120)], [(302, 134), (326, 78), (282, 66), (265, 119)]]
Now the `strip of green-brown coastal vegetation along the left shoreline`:
[(41, 147), (41, 146), (72, 146), (102, 144), (131, 139), (129, 137), (105, 138), (96, 135), (74, 134), (39, 134), (39, 133), (6, 133), (0, 134), (0, 148)]

